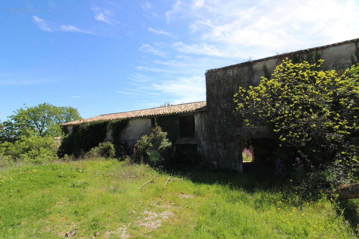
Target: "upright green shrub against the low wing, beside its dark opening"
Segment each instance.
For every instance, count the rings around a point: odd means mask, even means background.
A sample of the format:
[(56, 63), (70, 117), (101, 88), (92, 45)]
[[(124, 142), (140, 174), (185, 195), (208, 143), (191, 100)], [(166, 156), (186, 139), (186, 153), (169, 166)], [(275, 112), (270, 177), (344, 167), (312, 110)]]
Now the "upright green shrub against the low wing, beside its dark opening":
[(157, 124), (149, 135), (143, 135), (137, 140), (134, 148), (134, 158), (137, 162), (144, 161), (151, 166), (160, 166), (171, 148), (172, 143), (166, 138), (167, 133), (163, 132)]

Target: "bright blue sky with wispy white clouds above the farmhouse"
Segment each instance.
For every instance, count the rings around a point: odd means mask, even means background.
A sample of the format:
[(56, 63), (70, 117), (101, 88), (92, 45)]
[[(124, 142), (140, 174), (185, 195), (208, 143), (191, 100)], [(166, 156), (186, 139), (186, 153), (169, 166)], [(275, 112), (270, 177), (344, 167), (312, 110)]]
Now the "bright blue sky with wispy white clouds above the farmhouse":
[[(0, 120), (206, 100), (205, 71), (359, 37), (358, 1), (1, 1)], [(24, 105), (26, 104), (26, 105)]]

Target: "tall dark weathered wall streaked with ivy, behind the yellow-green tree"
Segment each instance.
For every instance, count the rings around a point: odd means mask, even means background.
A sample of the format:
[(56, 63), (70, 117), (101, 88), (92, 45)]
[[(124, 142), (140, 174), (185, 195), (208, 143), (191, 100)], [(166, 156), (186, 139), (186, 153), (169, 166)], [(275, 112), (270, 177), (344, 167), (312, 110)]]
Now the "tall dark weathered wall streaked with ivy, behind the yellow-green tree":
[[(201, 149), (205, 157), (220, 167), (242, 170), (241, 141), (257, 138), (258, 132), (243, 130), (241, 122), (234, 118), (232, 112), (236, 104), (233, 95), (239, 86), (257, 86), (265, 74), (264, 64), (271, 74), (286, 57), (294, 62), (320, 57), (325, 60), (323, 70), (342, 70), (351, 65), (355, 42), (358, 43), (359, 39), (206, 71), (207, 112), (205, 118), (201, 119), (207, 134), (203, 139), (205, 147)], [(267, 129), (262, 129), (260, 133), (263, 138), (274, 137)]]

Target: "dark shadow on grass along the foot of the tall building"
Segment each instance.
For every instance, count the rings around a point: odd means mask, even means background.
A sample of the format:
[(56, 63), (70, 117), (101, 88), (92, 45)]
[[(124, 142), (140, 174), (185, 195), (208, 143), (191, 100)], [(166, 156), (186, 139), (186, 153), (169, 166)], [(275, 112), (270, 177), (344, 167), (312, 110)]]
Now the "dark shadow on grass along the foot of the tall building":
[[(282, 199), (292, 202), (294, 206), (301, 206), (307, 202), (317, 201), (323, 197), (331, 200), (334, 195), (328, 191), (329, 185), (317, 183), (317, 178), (308, 176), (307, 172), (300, 175), (278, 176), (270, 165), (261, 165), (254, 162), (244, 163), (244, 172), (233, 172), (218, 168), (201, 167), (198, 164), (179, 165), (180, 167), (167, 168), (166, 173), (185, 177), (195, 183), (218, 184), (229, 187), (231, 190), (243, 190), (252, 195), (260, 192), (266, 195), (281, 193)], [(320, 173), (318, 173), (319, 176)], [(264, 199), (265, 200), (265, 199)], [(359, 199), (337, 201), (334, 199), (337, 214), (343, 215), (353, 231), (359, 234)]]

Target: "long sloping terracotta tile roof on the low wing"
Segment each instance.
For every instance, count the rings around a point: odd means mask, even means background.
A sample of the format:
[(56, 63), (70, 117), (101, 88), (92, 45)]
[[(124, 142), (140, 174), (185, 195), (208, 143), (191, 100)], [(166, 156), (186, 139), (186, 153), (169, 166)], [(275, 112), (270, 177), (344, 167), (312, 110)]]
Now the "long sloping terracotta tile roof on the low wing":
[(93, 120), (112, 120), (112, 119), (133, 119), (133, 118), (142, 118), (142, 117), (150, 117), (150, 116), (160, 116), (167, 114), (180, 114), (186, 112), (193, 111), (204, 111), (206, 110), (206, 101), (192, 102), (187, 104), (180, 105), (170, 105), (170, 106), (162, 106), (145, 110), (133, 110), (121, 113), (113, 113), (113, 114), (105, 114), (90, 117), (87, 119), (75, 120), (72, 122), (67, 122), (61, 124), (61, 126), (66, 125), (74, 125), (79, 124), (84, 121), (93, 121)]

